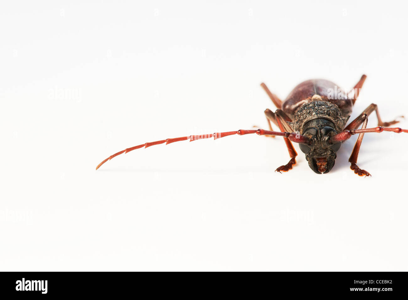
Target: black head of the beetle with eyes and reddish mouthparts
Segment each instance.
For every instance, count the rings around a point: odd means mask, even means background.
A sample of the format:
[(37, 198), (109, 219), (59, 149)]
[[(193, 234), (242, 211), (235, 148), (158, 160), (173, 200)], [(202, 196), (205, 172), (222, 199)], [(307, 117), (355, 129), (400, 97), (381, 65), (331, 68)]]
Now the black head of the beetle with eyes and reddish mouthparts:
[(299, 144), (299, 148), (306, 154), (310, 169), (317, 174), (330, 172), (341, 146), (341, 142), (330, 142), (330, 138), (337, 134), (335, 125), (329, 120), (317, 118), (307, 122), (303, 128), (302, 134), (310, 138), (310, 144)]

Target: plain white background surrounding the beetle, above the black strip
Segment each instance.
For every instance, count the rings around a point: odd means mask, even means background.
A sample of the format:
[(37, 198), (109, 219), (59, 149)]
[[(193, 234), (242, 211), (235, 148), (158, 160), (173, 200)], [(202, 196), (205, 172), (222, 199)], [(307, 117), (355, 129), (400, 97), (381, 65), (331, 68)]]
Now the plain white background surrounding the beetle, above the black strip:
[(0, 269), (407, 271), (405, 133), (364, 136), (371, 178), (356, 136), (325, 175), (300, 150), (275, 173), (284, 141), (256, 135), (95, 171), (267, 129), (261, 82), (365, 73), (351, 118), (408, 115), (407, 25), (392, 1), (2, 2)]

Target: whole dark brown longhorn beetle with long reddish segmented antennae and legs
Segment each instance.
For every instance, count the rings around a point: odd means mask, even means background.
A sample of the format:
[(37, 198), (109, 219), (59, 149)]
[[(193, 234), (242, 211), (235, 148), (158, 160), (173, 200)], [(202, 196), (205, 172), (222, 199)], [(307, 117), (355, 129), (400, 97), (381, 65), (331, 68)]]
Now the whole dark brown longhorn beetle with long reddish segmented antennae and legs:
[[(306, 80), (298, 84), (284, 101), (271, 93), (268, 87), (266, 87), (266, 84), (262, 83), (261, 87), (266, 91), (269, 98), (271, 98), (277, 107), (275, 112), (270, 109), (264, 111), (269, 130), (240, 129), (237, 131), (184, 136), (180, 138), (168, 138), (156, 142), (146, 142), (109, 156), (98, 164), (96, 169), (98, 170), (102, 164), (115, 156), (142, 147), (147, 148), (157, 144), (170, 144), (184, 140), (195, 141), (203, 138), (214, 138), (216, 140), (235, 134), (242, 136), (256, 133), (260, 136), (271, 136), (273, 138), (275, 138), (275, 136), (281, 136), (284, 138), (290, 160), (287, 164), (278, 167), (275, 171), (279, 173), (281, 173), (281, 171), (286, 172), (292, 169), (296, 164), (297, 152), (292, 144), (292, 142), (295, 142), (299, 144), (300, 150), (305, 153), (310, 169), (317, 174), (326, 174), (330, 172), (335, 164), (337, 151), (340, 149), (341, 143), (348, 140), (351, 136), (359, 134), (348, 160), (350, 162), (350, 169), (359, 176), (371, 176), (366, 170), (360, 169), (357, 166), (357, 157), (364, 133), (380, 133), (383, 131), (408, 133), (408, 130), (399, 127), (389, 127), (399, 121), (383, 122), (380, 118), (377, 104), (374, 103), (370, 104), (355, 120), (346, 126), (353, 105), (359, 96), (366, 77), (366, 75), (361, 76), (361, 79), (357, 82), (355, 87), (347, 93), (343, 89), (339, 89), (336, 84), (329, 80)], [(377, 114), (378, 126), (366, 128), (368, 116), (373, 111)], [(404, 116), (401, 116), (401, 118), (404, 118)], [(271, 122), (279, 127), (280, 131), (273, 131)], [(361, 129), (358, 129), (361, 124)]]

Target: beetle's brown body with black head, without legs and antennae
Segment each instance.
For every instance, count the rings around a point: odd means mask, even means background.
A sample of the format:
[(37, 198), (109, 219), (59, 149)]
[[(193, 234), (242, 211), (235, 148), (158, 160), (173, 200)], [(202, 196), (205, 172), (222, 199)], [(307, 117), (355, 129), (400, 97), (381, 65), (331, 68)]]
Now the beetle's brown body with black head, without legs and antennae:
[[(315, 173), (328, 173), (333, 168), (341, 143), (333, 149), (328, 140), (346, 127), (352, 107), (353, 101), (347, 93), (324, 79), (306, 80), (298, 84), (282, 103), (282, 111), (293, 120), (286, 119), (290, 131), (315, 139), (315, 147), (299, 144)], [(309, 129), (308, 132), (306, 129)]]

